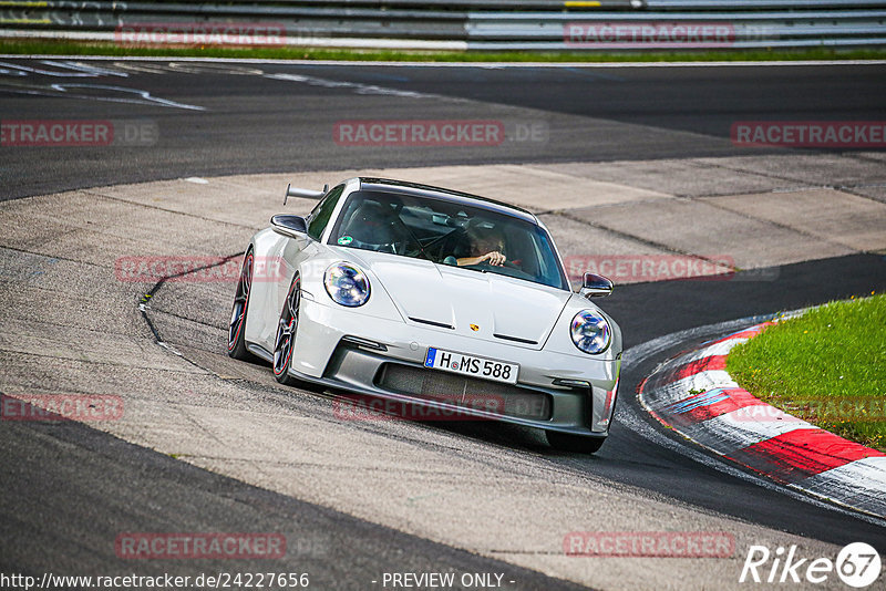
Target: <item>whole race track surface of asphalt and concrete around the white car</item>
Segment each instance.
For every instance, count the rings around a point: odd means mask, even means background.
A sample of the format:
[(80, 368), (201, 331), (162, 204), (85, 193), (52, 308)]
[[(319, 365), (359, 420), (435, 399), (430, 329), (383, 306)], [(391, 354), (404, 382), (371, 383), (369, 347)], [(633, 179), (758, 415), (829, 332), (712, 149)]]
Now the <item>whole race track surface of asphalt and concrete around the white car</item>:
[[(886, 121), (884, 96), (884, 64), (431, 68), (0, 59), (4, 124), (112, 121), (115, 129), (132, 132), (109, 146), (25, 147), (4, 137), (0, 390), (132, 387), (135, 416), (145, 418), (107, 428), (0, 423), (0, 572), (39, 579), (47, 571), (268, 570), (267, 560), (115, 556), (115, 537), (138, 531), (284, 532), (289, 550), (272, 570), (310, 572), (317, 589), (383, 589), (385, 572), (443, 571), (502, 573), (508, 589), (741, 589), (749, 543), (799, 543), (812, 556), (865, 541), (886, 556), (882, 519), (725, 467), (662, 429), (633, 395), (658, 363), (738, 325), (730, 321), (886, 290), (882, 247), (801, 253), (741, 271), (733, 281), (618, 286), (601, 304), (626, 338), (618, 419), (593, 457), (553, 452), (537, 433), (501, 425), (336, 425), (330, 393), (281, 388), (267, 369), (224, 355), (233, 284), (113, 280), (114, 258), (133, 245), (145, 252), (164, 252), (164, 245), (165, 252), (240, 252), (267, 216), (261, 208), (256, 214), (254, 196), (237, 195), (234, 182), (213, 196), (214, 177), (227, 175), (496, 164), (544, 165), (554, 174), (586, 163), (607, 183), (627, 185), (636, 170), (647, 175), (640, 189), (687, 199), (804, 185), (879, 206), (886, 201), (883, 152), (749, 154), (730, 141), (730, 128), (736, 121)], [(351, 120), (501, 121), (507, 137), (494, 146), (342, 145), (334, 126)], [(751, 164), (743, 159), (749, 156)], [(720, 177), (693, 177), (692, 163), (705, 163), (705, 174), (756, 168), (756, 179), (736, 188)], [(674, 178), (684, 166), (684, 178)], [(159, 189), (138, 185), (125, 195), (101, 189), (166, 179), (169, 185), (151, 187), (195, 186), (175, 180), (188, 177), (208, 179), (205, 201), (189, 201), (187, 188), (171, 189), (168, 201)], [(699, 188), (704, 183), (712, 188)], [(277, 196), (261, 198), (282, 210)], [(92, 208), (93, 200), (101, 206)], [(292, 207), (300, 212), (310, 203), (297, 199)], [(571, 228), (568, 220), (539, 210), (558, 225), (552, 231), (559, 242), (556, 231)], [(569, 231), (569, 240), (581, 240)], [(761, 271), (767, 279), (754, 280)], [(68, 290), (71, 301), (54, 308)], [(144, 293), (152, 298), (140, 311)], [(198, 395), (183, 393), (189, 383)], [(193, 414), (164, 416), (183, 397)], [(280, 439), (293, 425), (308, 428), (291, 442)], [(274, 465), (262, 446), (288, 459)], [(225, 456), (230, 449), (243, 455)], [(301, 460), (292, 459), (299, 454)], [(497, 475), (501, 488), (484, 475)], [(476, 512), (464, 508), (473, 481)], [(440, 504), (457, 498), (464, 505), (433, 507), (437, 501), (414, 494), (425, 488)], [(380, 498), (385, 495), (391, 498)], [(401, 497), (408, 502), (398, 502)], [(645, 507), (638, 505), (643, 499), (656, 512), (630, 510)], [(568, 519), (557, 515), (559, 507)], [(464, 518), (484, 515), (488, 521), (474, 525)], [(554, 522), (559, 538), (552, 542), (542, 537)], [(573, 527), (563, 529), (563, 522)], [(734, 531), (732, 560), (579, 562), (586, 559), (558, 554), (573, 530), (715, 527)], [(841, 588), (836, 580), (813, 587)]]

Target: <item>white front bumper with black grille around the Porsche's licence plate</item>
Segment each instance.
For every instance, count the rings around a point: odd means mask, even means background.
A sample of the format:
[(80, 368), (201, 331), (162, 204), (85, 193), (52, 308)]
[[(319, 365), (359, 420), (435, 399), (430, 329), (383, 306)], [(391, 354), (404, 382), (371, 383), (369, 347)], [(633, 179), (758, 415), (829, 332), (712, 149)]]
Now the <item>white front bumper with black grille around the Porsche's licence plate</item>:
[[(427, 348), (519, 364), (516, 385), (425, 369)], [(552, 353), (362, 314), (302, 298), (290, 373), (300, 380), (476, 418), (605, 437), (620, 354)], [(495, 401), (487, 406), (477, 398)], [(492, 408), (486, 409), (486, 408)]]

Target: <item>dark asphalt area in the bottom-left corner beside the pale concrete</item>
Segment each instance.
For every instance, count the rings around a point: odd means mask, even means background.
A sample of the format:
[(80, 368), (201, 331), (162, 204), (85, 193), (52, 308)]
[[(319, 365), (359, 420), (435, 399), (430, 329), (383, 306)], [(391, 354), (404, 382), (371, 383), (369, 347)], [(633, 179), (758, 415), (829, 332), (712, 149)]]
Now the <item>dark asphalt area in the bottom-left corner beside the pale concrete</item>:
[[(3, 422), (0, 448), (3, 573), (193, 581), (199, 573), (307, 572), (311, 589), (363, 590), (381, 587), (384, 572), (454, 572), (453, 589), (462, 589), (463, 572), (498, 572), (515, 581), (509, 589), (586, 589), (256, 488), (82, 423)], [(272, 560), (121, 559), (114, 541), (124, 532), (281, 533), (287, 550)]]

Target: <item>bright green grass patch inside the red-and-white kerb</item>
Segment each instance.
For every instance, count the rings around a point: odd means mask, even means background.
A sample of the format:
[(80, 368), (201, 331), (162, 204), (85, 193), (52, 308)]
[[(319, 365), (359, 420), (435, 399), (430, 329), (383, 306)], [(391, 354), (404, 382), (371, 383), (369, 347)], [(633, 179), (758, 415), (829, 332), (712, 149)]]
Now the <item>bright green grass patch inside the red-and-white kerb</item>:
[(754, 396), (886, 450), (886, 294), (781, 321), (733, 349), (727, 370)]

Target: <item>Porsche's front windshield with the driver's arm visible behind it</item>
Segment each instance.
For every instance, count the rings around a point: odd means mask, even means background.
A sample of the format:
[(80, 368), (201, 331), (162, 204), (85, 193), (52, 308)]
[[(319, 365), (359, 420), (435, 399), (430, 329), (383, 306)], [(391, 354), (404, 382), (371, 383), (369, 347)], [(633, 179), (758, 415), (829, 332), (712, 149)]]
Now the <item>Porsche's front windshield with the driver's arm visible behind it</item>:
[(457, 203), (356, 191), (348, 197), (329, 243), (569, 289), (543, 228)]

